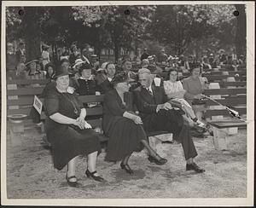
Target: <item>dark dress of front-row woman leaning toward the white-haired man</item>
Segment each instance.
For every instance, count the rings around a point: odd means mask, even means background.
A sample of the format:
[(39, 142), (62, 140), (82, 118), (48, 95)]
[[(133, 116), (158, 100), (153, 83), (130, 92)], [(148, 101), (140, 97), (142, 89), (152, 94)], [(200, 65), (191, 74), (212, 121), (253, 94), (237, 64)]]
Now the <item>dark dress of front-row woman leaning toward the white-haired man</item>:
[(109, 137), (106, 160), (119, 161), (134, 151), (143, 149), (141, 140), (147, 140), (143, 126), (123, 117), (125, 111), (131, 111), (131, 93), (125, 96), (122, 103), (116, 90), (110, 90), (104, 96), (102, 128)]

